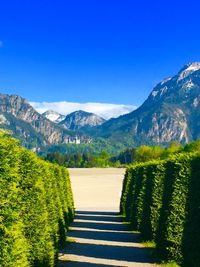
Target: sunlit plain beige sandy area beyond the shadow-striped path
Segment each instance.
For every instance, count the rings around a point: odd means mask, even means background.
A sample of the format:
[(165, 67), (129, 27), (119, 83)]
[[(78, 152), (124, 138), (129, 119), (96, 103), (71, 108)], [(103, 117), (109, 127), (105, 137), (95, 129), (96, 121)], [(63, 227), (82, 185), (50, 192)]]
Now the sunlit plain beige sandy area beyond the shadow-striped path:
[(119, 211), (125, 169), (69, 169), (77, 210)]

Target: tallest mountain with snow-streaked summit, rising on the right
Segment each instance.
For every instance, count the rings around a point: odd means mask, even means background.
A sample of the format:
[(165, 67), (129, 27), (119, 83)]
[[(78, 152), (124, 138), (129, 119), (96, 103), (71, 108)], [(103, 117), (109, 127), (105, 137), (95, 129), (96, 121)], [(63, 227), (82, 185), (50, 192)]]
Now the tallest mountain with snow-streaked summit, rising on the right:
[(185, 143), (200, 138), (200, 63), (160, 82), (137, 110), (97, 127), (95, 136), (126, 145)]

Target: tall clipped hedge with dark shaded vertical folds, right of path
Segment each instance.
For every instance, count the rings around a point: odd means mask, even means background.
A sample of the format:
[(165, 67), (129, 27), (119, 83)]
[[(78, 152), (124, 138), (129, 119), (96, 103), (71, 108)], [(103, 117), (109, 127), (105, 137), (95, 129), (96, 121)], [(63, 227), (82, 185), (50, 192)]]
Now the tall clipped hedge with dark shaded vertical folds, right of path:
[(182, 153), (126, 171), (120, 211), (161, 259), (200, 266), (200, 157)]

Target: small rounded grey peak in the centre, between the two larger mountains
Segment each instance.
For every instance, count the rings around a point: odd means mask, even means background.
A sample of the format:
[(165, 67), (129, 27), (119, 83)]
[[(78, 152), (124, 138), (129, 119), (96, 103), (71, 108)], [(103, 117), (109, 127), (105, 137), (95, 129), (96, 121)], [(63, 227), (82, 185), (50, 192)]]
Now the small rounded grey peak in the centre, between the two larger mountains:
[(59, 123), (68, 130), (80, 130), (86, 127), (94, 127), (101, 125), (105, 120), (94, 113), (78, 110), (67, 115), (66, 118)]

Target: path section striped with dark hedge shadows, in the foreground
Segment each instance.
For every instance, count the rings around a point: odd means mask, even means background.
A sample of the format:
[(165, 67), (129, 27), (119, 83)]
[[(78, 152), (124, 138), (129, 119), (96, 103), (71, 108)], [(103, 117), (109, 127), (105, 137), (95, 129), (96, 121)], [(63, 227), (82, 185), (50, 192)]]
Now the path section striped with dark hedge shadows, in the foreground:
[(60, 267), (155, 266), (139, 234), (113, 212), (77, 211), (60, 253)]

